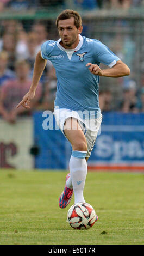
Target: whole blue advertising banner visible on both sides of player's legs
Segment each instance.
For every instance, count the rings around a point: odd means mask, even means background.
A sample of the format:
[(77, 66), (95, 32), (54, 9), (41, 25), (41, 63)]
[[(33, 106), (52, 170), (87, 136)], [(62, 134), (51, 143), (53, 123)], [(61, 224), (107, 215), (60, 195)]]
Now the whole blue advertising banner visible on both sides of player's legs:
[[(35, 112), (34, 142), (39, 147), (35, 168), (67, 169), (71, 145), (47, 113)], [(50, 125), (51, 123), (51, 125)], [(47, 124), (47, 126), (46, 126)], [(101, 134), (89, 159), (89, 166), (128, 165), (144, 167), (144, 114), (103, 113)]]

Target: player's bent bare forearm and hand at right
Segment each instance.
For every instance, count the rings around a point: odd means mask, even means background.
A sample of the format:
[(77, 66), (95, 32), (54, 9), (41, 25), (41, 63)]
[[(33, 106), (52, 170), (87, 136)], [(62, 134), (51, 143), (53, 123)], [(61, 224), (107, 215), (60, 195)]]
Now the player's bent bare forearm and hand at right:
[(117, 60), (116, 64), (109, 69), (101, 69), (98, 65), (90, 62), (87, 63), (86, 66), (89, 66), (89, 70), (93, 75), (107, 77), (122, 77), (130, 75), (129, 67), (121, 60)]

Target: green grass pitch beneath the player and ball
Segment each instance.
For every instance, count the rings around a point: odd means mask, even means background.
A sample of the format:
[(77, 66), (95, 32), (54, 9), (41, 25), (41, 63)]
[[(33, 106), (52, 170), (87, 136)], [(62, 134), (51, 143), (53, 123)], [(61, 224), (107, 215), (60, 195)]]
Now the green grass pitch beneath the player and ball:
[(88, 172), (84, 197), (98, 221), (74, 230), (58, 206), (67, 172), (0, 170), (1, 245), (139, 245), (144, 243), (142, 173)]

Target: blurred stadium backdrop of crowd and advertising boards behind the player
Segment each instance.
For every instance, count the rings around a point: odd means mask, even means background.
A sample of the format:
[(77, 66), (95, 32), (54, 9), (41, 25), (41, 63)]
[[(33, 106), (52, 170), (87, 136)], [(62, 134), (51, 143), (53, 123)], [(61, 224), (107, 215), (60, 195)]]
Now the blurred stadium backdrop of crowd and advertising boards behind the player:
[[(24, 88), (20, 89), (18, 77), (28, 68), (21, 87), (32, 79), (36, 52), (43, 41), (59, 38), (55, 18), (66, 8), (78, 10), (82, 15), (82, 35), (102, 41), (131, 70), (129, 77), (101, 77), (99, 101), (103, 123), (99, 131), (101, 135), (97, 137), (89, 160), (89, 168), (143, 172), (142, 0), (0, 2), (0, 167), (26, 170), (68, 168), (70, 144), (59, 130), (51, 127), (45, 130), (42, 127), (43, 121), (48, 118), (43, 111), (52, 111), (56, 89), (51, 63), (47, 64), (43, 73), (32, 110), (19, 114), (15, 112), (15, 106), (24, 92)], [(13, 90), (16, 84), (17, 89)]]

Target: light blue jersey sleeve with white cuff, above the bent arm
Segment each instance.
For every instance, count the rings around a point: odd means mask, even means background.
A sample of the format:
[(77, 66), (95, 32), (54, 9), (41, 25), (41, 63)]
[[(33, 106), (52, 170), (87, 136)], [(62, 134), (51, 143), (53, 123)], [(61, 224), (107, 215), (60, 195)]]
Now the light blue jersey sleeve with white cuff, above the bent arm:
[(116, 64), (120, 58), (118, 58), (115, 53), (113, 53), (106, 45), (102, 44), (102, 42), (98, 41), (95, 42), (95, 47), (93, 47), (95, 50), (95, 57), (96, 61), (99, 63), (103, 63), (109, 68), (112, 68)]

